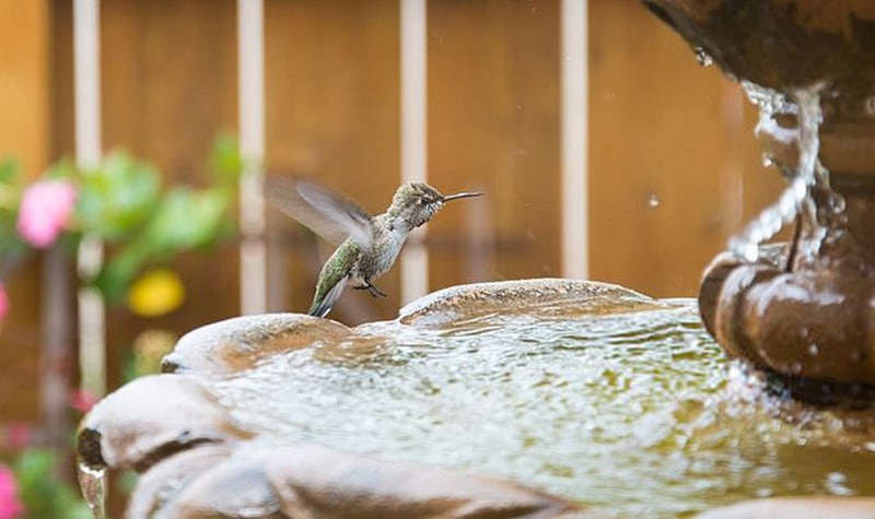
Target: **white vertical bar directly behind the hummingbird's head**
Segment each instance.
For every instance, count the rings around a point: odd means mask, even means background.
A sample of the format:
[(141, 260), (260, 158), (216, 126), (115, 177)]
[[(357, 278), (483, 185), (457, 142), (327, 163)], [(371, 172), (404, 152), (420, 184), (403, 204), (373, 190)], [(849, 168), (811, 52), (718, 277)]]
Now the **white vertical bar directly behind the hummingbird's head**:
[[(427, 150), (427, 4), (400, 0), (401, 19), (401, 181), (428, 179)], [(425, 229), (417, 232), (424, 237)], [(401, 304), (429, 291), (429, 253), (406, 247), (401, 253)]]

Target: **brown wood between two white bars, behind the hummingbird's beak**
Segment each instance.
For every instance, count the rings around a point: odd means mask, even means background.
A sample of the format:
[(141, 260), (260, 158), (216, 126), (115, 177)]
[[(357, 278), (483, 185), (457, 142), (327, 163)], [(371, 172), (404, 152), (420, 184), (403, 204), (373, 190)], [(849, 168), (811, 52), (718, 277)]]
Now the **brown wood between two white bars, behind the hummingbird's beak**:
[(487, 193), (447, 207), (430, 235), (474, 227), (472, 245), (508, 245), (435, 247), (432, 290), (559, 275), (559, 129), (558, 1), (429, 3), (429, 178)]

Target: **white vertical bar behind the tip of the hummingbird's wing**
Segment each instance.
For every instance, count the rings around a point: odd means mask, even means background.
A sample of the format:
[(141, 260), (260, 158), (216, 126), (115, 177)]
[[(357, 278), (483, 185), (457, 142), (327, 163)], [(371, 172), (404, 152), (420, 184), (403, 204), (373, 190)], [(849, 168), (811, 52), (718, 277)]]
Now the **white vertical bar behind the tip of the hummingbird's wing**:
[(265, 198), (265, 13), (262, 0), (237, 0), (240, 142), (246, 167), (240, 181), (241, 314), (267, 311)]

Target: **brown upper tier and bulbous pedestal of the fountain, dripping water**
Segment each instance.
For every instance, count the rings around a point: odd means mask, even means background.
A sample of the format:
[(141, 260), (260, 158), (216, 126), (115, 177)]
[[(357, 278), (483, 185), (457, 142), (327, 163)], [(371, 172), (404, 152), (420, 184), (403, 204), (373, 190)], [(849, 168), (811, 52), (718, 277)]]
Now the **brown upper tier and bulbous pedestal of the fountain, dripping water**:
[(733, 247), (719, 255), (700, 290), (705, 327), (730, 356), (777, 375), (798, 398), (871, 401), (875, 3), (642, 1), (697, 54), (745, 84), (760, 106), (763, 152), (791, 181), (775, 208), (783, 223), (795, 219), (793, 243), (777, 258), (758, 253), (777, 231), (773, 220), (770, 231), (743, 236), (752, 253)]

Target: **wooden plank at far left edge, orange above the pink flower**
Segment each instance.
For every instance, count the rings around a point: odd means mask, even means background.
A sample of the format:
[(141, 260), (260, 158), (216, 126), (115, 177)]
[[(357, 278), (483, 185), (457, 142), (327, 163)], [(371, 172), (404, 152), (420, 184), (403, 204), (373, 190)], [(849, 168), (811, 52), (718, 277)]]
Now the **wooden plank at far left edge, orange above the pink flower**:
[[(34, 178), (49, 162), (50, 4), (0, 1), (0, 157), (14, 157)], [(34, 421), (39, 413), (39, 263), (31, 261), (3, 280), (11, 303), (0, 322), (0, 415)]]

